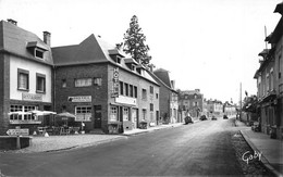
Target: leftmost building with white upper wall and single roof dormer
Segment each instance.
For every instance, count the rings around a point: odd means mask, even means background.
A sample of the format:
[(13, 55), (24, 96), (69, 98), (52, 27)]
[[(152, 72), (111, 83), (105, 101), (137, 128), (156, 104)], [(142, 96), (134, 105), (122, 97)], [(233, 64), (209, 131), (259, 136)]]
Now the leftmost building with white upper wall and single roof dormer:
[(41, 40), (13, 20), (0, 22), (0, 135), (42, 123), (27, 112), (52, 110), (52, 66), (50, 33)]

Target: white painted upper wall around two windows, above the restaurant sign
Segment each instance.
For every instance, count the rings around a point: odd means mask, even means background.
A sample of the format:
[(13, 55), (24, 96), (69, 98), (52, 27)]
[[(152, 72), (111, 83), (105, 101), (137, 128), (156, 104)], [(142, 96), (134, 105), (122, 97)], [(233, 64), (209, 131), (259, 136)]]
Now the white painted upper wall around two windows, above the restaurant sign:
[(22, 100), (22, 92), (17, 90), (17, 68), (29, 71), (29, 91), (36, 93), (36, 73), (46, 75), (46, 93), (42, 93), (42, 102), (51, 103), (51, 66), (10, 56), (10, 99)]

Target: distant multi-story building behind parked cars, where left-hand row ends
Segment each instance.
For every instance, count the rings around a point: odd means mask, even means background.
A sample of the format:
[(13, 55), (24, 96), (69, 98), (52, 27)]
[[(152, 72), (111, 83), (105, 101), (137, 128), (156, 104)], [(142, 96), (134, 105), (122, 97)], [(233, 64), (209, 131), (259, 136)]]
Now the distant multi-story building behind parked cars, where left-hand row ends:
[(199, 117), (204, 111), (204, 94), (199, 89), (181, 91), (180, 106), (190, 116)]

